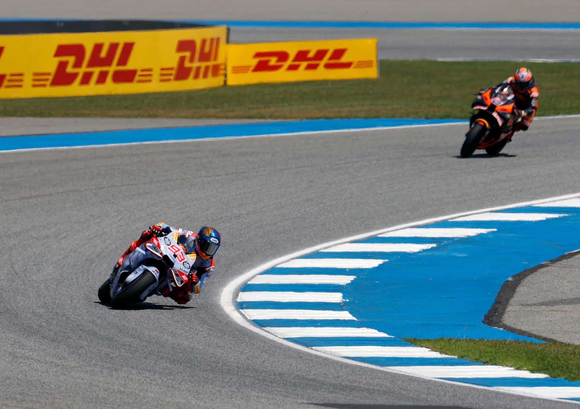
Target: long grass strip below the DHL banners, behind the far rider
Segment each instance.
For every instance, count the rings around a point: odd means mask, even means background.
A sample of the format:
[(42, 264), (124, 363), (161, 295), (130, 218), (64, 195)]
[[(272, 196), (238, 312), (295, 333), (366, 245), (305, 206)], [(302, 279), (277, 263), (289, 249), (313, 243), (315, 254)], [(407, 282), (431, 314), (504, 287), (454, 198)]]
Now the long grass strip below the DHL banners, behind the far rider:
[[(472, 93), (520, 63), (381, 60), (379, 79), (225, 86), (200, 91), (3, 99), (0, 116), (148, 118), (467, 118)], [(580, 64), (531, 63), (538, 115), (580, 113)]]

